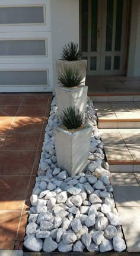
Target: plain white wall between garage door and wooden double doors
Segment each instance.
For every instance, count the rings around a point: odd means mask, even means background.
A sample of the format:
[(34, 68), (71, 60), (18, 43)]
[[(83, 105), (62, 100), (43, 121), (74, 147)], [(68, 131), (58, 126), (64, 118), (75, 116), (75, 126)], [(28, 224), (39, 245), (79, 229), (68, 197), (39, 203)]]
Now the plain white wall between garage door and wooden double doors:
[(57, 82), (56, 60), (68, 42), (79, 43), (79, 0), (50, 0), (54, 87)]

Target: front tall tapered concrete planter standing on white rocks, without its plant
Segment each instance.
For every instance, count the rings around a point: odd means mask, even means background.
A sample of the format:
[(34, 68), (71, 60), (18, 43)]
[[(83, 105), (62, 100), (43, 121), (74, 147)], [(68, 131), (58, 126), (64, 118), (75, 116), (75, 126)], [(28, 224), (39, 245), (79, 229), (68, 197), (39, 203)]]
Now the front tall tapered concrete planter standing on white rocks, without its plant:
[(87, 167), (92, 127), (71, 133), (61, 127), (53, 127), (58, 167), (68, 171), (70, 176), (84, 172)]

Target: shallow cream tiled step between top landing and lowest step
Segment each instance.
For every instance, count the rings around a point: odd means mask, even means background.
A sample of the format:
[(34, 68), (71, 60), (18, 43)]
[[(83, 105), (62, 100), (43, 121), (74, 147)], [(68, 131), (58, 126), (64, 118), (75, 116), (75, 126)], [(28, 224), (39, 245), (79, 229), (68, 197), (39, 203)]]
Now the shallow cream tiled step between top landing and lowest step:
[(140, 128), (140, 101), (94, 104), (98, 128)]

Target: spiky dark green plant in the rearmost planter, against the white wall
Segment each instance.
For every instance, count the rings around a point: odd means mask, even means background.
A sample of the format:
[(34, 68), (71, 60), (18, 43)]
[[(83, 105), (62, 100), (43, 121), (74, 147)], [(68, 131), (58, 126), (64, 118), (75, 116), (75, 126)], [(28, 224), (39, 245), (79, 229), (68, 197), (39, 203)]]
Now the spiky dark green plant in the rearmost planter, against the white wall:
[(63, 60), (78, 60), (82, 55), (81, 51), (78, 50), (78, 44), (70, 42), (68, 45), (64, 45), (62, 48), (61, 58)]

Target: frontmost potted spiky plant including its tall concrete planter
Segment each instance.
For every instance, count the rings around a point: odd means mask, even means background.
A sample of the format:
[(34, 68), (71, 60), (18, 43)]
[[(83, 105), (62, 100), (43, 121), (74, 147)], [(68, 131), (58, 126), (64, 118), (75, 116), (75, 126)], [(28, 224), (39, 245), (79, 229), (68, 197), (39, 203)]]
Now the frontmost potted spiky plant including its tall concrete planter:
[(82, 112), (72, 106), (63, 110), (60, 119), (62, 124), (53, 127), (58, 167), (77, 175), (87, 167), (92, 127), (84, 124)]

